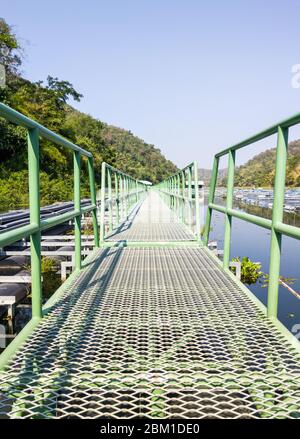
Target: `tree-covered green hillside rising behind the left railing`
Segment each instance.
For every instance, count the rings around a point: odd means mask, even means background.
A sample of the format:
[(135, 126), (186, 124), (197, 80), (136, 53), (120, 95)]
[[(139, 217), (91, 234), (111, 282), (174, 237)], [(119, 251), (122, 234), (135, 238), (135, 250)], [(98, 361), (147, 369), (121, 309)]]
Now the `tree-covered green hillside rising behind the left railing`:
[[(176, 171), (160, 150), (130, 131), (107, 125), (72, 108), (70, 99), (80, 101), (68, 81), (48, 76), (45, 82), (25, 80), (19, 73), (22, 52), (11, 27), (0, 19), (0, 63), (6, 69), (6, 87), (0, 101), (67, 137), (94, 154), (96, 183), (100, 186), (101, 162), (134, 177), (154, 183)], [(0, 119), (0, 210), (28, 204), (26, 132)], [(42, 204), (73, 197), (73, 157), (70, 151), (41, 141)], [(89, 196), (86, 163), (83, 161), (82, 197)]]

